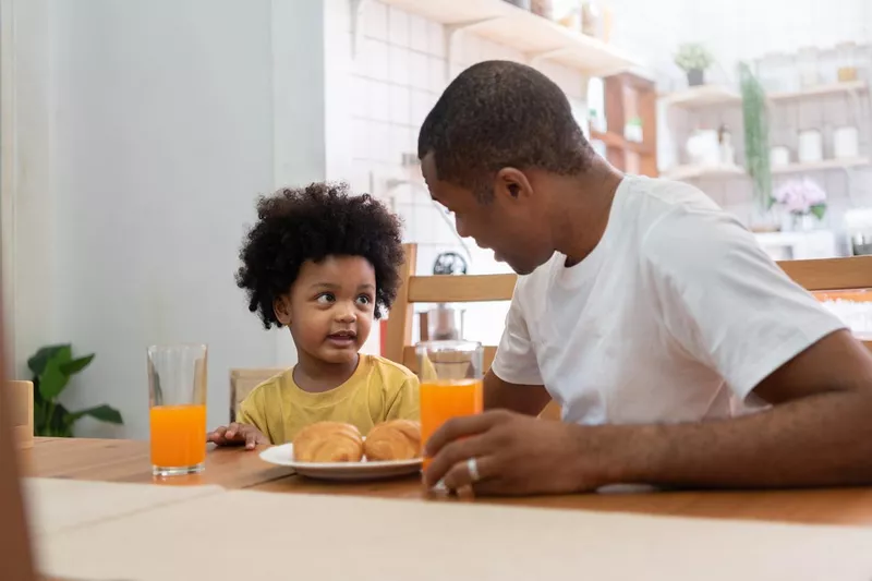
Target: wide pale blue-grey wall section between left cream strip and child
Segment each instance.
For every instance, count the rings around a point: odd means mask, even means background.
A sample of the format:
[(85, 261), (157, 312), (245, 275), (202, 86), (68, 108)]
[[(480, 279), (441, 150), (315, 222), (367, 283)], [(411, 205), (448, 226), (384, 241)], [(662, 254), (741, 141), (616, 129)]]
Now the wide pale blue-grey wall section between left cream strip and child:
[(57, 337), (97, 353), (69, 403), (116, 406), (145, 437), (145, 348), (196, 341), (226, 421), (228, 368), (276, 360), (233, 280), (274, 183), (270, 2), (55, 9)]

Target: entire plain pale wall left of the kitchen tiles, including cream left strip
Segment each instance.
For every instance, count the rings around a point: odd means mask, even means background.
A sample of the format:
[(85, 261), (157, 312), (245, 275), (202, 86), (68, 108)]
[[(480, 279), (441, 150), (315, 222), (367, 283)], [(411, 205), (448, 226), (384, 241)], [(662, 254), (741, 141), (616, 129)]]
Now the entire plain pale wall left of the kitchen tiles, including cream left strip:
[(65, 402), (110, 403), (125, 426), (78, 434), (147, 435), (150, 343), (209, 344), (211, 425), (229, 368), (295, 362), (233, 276), (256, 195), (348, 174), (339, 4), (0, 0), (14, 367), (50, 342), (96, 352)]

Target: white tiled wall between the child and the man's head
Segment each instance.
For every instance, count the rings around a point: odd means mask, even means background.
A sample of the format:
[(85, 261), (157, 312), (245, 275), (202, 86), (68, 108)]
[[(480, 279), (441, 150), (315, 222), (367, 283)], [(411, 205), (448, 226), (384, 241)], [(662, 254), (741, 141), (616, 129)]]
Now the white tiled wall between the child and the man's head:
[[(416, 156), (421, 124), (448, 84), (445, 29), (438, 23), (380, 2), (367, 5), (363, 21), (363, 43), (352, 69), (352, 183), (356, 189), (368, 190), (370, 173), (376, 177), (373, 193), (387, 198), (402, 217), (407, 240), (419, 244), (417, 271), (431, 274), (440, 252), (464, 253), (456, 231), (423, 186), (398, 186), (387, 192), (384, 184), (388, 178), (420, 180), (420, 170), (403, 168), (401, 159), (403, 154)], [(452, 77), (483, 60), (524, 61), (519, 51), (474, 35), (458, 35), (455, 43)], [(543, 64), (542, 71), (566, 90), (574, 106), (584, 110), (586, 80), (579, 72), (555, 64)], [(465, 241), (465, 245), (471, 251), (470, 273), (510, 271), (473, 241)], [(467, 337), (496, 343), (507, 307), (505, 303), (469, 305)]]

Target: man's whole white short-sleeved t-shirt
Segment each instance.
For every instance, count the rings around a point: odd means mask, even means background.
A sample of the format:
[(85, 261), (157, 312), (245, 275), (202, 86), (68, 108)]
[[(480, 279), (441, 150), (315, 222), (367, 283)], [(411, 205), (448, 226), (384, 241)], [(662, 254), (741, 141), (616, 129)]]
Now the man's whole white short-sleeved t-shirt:
[(594, 251), (556, 253), (514, 290), (494, 361), (580, 424), (726, 417), (844, 328), (705, 194), (627, 177)]

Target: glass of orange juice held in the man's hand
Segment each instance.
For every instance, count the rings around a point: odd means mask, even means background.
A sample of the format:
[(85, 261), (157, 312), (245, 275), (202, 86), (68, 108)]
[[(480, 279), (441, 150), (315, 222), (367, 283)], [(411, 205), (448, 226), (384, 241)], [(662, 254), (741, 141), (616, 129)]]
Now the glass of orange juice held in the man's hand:
[[(421, 441), (451, 417), (482, 413), (482, 343), (425, 341), (415, 347), (421, 379)], [(426, 459), (424, 460), (426, 467)]]

